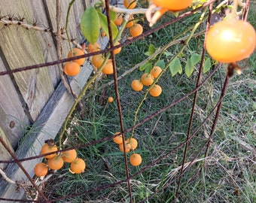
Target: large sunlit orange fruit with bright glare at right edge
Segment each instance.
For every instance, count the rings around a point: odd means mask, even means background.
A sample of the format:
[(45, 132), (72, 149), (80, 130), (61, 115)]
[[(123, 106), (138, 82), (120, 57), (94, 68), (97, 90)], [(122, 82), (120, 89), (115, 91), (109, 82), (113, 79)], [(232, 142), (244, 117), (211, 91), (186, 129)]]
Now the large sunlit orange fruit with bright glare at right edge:
[(219, 62), (238, 62), (248, 58), (256, 46), (256, 33), (250, 23), (223, 20), (210, 27), (206, 34), (206, 50)]

